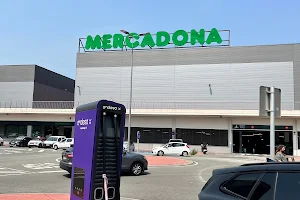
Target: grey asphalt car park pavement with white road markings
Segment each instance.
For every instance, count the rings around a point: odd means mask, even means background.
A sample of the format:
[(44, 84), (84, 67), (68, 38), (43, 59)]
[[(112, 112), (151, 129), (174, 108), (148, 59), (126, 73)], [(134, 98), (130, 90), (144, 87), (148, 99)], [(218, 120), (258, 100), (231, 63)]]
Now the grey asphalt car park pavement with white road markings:
[[(61, 150), (0, 147), (0, 193), (69, 193), (71, 179), (59, 168)], [(216, 168), (255, 162), (250, 158), (186, 157), (188, 166), (152, 166), (141, 176), (123, 175), (121, 196), (141, 200), (197, 199)]]

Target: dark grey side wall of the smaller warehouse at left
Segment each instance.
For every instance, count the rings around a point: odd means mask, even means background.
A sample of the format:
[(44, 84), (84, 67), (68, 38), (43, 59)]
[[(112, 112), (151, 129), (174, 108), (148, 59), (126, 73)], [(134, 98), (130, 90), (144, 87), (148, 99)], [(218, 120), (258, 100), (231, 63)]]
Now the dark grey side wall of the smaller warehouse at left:
[(35, 67), (34, 101), (74, 101), (75, 80)]

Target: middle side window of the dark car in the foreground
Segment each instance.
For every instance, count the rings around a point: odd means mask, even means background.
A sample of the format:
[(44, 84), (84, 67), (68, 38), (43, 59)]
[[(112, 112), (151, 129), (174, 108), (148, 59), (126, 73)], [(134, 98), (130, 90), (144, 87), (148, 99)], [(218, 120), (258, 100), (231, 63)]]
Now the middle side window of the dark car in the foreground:
[(274, 199), (276, 173), (266, 173), (259, 182), (250, 200)]

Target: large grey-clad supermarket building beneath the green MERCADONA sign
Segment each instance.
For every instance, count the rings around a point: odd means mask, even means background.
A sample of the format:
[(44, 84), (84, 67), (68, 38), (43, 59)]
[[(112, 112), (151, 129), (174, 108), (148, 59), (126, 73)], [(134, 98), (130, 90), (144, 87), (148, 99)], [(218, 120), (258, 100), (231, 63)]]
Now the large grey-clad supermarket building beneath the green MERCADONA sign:
[[(211, 152), (268, 153), (269, 120), (258, 116), (259, 86), (264, 85), (282, 92), (276, 144), (300, 155), (300, 44), (137, 50), (133, 63), (131, 138), (136, 141), (140, 131), (142, 148), (165, 143), (174, 132), (191, 146), (208, 143)], [(128, 108), (130, 67), (130, 51), (78, 53), (74, 100), (37, 106), (17, 93), (10, 99), (1, 95), (1, 102), (12, 103), (9, 108), (1, 104), (0, 134), (11, 123), (22, 123), (29, 135), (28, 127), (39, 123), (72, 127), (76, 106), (99, 99)]]

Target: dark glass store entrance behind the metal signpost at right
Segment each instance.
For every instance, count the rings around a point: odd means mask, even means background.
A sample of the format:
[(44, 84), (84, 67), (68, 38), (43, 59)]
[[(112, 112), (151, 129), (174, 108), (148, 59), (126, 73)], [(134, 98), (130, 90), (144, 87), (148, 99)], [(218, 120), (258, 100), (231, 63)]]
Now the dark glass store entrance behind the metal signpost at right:
[[(233, 126), (233, 152), (249, 154), (270, 154), (269, 126), (254, 125)], [(235, 130), (234, 130), (235, 129)], [(239, 130), (237, 130), (239, 129)], [(267, 130), (264, 130), (267, 129)], [(285, 129), (285, 130), (284, 130)], [(293, 127), (275, 127), (275, 147), (282, 144), (286, 146), (286, 154), (293, 154)]]

